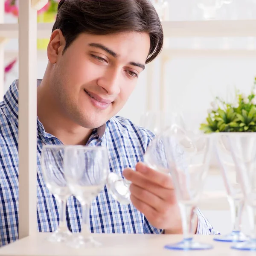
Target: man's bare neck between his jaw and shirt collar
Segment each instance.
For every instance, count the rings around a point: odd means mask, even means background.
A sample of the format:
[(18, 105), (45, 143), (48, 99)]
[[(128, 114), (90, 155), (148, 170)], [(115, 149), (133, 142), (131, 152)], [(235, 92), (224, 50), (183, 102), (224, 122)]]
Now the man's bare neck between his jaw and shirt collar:
[(37, 114), (45, 131), (61, 140), (64, 145), (86, 145), (92, 130), (62, 116), (51, 95), (44, 86), (38, 87)]

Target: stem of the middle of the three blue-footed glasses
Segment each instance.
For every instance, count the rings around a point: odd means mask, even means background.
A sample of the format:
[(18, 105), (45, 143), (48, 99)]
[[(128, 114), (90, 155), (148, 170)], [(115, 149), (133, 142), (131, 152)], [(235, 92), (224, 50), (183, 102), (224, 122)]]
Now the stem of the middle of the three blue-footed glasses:
[(228, 198), (228, 201), (230, 204), (231, 223), (233, 226), (232, 231), (241, 231), (241, 219), (244, 209), (244, 200)]

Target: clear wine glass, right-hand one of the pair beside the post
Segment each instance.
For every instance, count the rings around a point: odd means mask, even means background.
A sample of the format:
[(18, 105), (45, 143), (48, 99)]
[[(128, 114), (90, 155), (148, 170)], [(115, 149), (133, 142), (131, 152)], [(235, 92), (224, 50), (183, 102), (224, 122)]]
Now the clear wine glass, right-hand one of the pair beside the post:
[(81, 234), (68, 245), (75, 248), (97, 247), (90, 231), (90, 203), (104, 188), (108, 175), (108, 151), (101, 146), (67, 146), (64, 175), (72, 194), (82, 207)]

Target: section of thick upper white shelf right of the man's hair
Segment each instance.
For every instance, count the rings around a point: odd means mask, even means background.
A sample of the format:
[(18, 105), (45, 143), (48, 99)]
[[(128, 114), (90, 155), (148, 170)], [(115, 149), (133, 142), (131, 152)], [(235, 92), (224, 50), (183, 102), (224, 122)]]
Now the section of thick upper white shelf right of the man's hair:
[(166, 37), (253, 37), (256, 20), (201, 20), (163, 22)]

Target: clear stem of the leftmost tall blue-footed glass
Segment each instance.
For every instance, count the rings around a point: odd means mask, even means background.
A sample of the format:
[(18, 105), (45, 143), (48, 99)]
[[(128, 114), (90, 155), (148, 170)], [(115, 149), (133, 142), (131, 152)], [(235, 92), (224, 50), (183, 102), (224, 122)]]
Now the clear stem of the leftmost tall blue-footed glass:
[(181, 203), (179, 203), (179, 207), (182, 218), (183, 239), (192, 239), (194, 234), (195, 207)]

